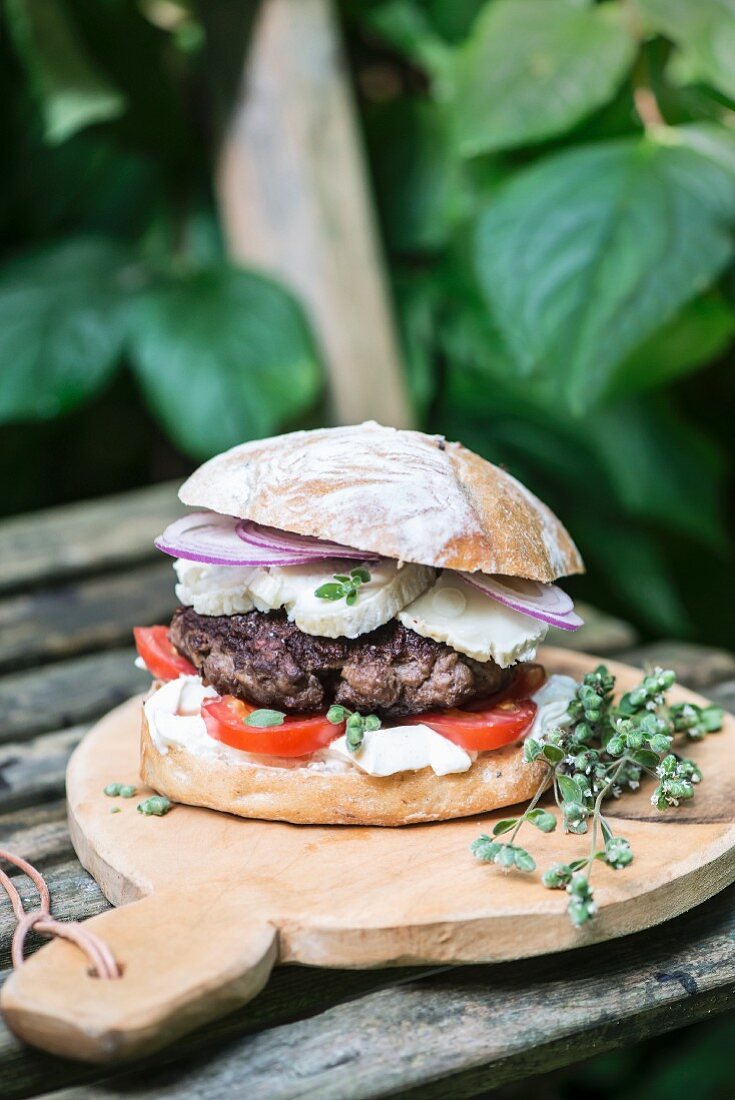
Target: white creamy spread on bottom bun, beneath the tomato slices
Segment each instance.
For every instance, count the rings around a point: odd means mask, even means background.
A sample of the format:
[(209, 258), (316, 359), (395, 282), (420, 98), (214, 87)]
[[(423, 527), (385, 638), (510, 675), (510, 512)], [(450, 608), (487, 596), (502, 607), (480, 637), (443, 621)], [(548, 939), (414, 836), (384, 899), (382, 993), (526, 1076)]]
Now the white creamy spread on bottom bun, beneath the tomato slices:
[[(577, 690), (571, 676), (552, 675), (533, 700), (538, 706), (534, 724), (525, 736), (538, 737), (545, 729), (569, 722), (567, 707)], [(369, 776), (394, 776), (402, 771), (431, 768), (436, 776), (468, 771), (478, 758), (442, 737), (428, 726), (394, 726), (365, 734), (358, 752), (352, 754), (345, 738), (338, 737), (326, 749), (311, 757), (285, 758), (259, 756), (222, 745), (207, 733), (200, 714), (206, 698), (217, 694), (205, 688), (199, 676), (179, 676), (155, 691), (143, 704), (151, 740), (163, 756), (177, 745), (205, 759), (222, 759), (235, 765), (301, 768), (314, 773), (343, 773), (352, 768)]]

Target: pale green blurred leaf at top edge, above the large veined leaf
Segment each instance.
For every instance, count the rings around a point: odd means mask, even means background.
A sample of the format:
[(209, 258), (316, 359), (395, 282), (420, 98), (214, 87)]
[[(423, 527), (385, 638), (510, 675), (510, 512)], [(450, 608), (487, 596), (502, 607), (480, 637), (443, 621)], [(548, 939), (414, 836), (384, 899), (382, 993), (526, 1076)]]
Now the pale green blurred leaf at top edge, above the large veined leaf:
[(475, 156), (563, 133), (612, 99), (634, 52), (617, 4), (486, 4), (457, 56), (460, 152)]

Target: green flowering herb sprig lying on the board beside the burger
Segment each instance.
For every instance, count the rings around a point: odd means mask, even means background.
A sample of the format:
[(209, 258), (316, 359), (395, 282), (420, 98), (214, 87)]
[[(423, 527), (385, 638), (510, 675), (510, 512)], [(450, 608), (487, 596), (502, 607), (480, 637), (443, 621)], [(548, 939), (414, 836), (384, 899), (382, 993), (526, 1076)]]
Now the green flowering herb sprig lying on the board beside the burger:
[[(604, 862), (617, 871), (633, 861), (629, 842), (613, 833), (602, 812), (604, 802), (624, 790), (635, 791), (644, 776), (657, 780), (650, 800), (657, 810), (693, 798), (702, 773), (693, 760), (672, 751), (672, 745), (701, 740), (722, 728), (720, 706), (668, 705), (666, 693), (674, 681), (672, 671), (654, 669), (615, 703), (615, 678), (607, 669), (601, 664), (588, 673), (570, 702), (567, 724), (526, 740), (526, 762), (546, 765), (528, 809), (519, 817), (497, 822), (492, 836), (478, 837), (471, 846), (474, 856), (506, 869), (534, 871), (536, 860), (515, 840), (527, 822), (542, 833), (553, 832), (557, 817), (538, 806), (551, 789), (564, 831), (589, 832), (590, 848), (581, 859), (555, 864), (541, 882), (550, 890), (567, 891), (567, 911), (577, 927), (591, 921), (596, 912), (592, 868)], [(507, 840), (501, 840), (506, 834)]]

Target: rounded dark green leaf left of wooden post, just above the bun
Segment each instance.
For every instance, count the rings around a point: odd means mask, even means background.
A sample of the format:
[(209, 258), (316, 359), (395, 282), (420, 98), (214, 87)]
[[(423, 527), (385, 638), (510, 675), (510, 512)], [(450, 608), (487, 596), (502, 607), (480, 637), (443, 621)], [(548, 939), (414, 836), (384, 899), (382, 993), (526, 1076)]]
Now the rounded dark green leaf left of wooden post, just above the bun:
[(189, 454), (267, 436), (321, 391), (300, 310), (260, 275), (222, 264), (172, 276), (140, 296), (133, 322), (133, 369)]

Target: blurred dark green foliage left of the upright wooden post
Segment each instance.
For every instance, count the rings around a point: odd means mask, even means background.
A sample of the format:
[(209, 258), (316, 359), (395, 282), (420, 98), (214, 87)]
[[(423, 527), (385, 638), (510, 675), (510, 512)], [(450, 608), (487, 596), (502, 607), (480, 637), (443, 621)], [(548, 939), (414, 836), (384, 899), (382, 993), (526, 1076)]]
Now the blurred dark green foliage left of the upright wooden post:
[(204, 29), (172, 0), (10, 0), (0, 422), (67, 414), (123, 363), (204, 458), (289, 426), (321, 369), (298, 305), (223, 255)]

